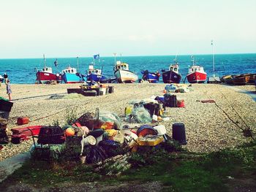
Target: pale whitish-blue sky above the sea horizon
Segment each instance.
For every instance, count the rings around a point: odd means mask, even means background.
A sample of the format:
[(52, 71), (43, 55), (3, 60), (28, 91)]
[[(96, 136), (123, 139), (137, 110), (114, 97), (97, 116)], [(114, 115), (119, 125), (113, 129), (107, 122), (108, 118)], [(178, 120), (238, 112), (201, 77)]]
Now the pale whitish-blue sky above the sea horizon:
[(0, 0), (0, 58), (256, 53), (255, 0)]

